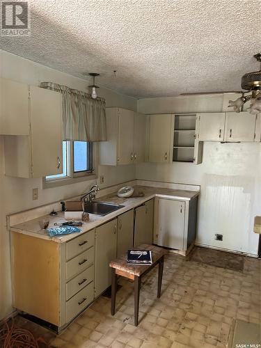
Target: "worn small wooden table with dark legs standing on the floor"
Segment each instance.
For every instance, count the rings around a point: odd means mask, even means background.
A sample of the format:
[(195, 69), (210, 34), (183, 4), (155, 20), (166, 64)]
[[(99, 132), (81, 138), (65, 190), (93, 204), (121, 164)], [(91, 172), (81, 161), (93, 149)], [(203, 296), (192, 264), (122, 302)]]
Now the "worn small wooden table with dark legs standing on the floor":
[(111, 267), (111, 315), (115, 314), (116, 307), (116, 288), (117, 278), (122, 276), (128, 279), (134, 280), (134, 324), (139, 323), (139, 296), (141, 290), (141, 277), (147, 274), (152, 268), (159, 264), (159, 276), (158, 276), (158, 290), (157, 297), (161, 296), (161, 283), (164, 268), (164, 255), (165, 251), (159, 246), (153, 246), (150, 244), (141, 244), (135, 249), (152, 251), (152, 264), (149, 266), (127, 264), (127, 257), (123, 255), (117, 260), (110, 262)]

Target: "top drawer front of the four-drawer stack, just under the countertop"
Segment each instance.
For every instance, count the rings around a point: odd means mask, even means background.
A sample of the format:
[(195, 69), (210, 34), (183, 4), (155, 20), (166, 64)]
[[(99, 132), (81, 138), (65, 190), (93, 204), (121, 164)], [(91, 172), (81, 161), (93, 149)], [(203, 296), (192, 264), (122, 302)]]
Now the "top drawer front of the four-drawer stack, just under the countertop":
[(74, 258), (83, 251), (94, 246), (94, 230), (84, 233), (66, 243), (66, 260)]

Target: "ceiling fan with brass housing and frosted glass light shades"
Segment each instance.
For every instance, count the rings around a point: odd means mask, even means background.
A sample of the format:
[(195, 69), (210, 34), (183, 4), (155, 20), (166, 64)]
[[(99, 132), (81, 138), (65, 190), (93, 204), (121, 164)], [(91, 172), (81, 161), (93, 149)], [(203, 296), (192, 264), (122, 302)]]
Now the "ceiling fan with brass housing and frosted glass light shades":
[[(240, 112), (243, 104), (251, 101), (250, 107), (247, 109), (250, 113), (260, 113), (261, 111), (261, 53), (255, 54), (255, 59), (260, 62), (260, 70), (247, 72), (242, 76), (241, 87), (246, 90), (226, 90), (215, 92), (200, 92), (200, 93), (181, 93), (180, 95), (210, 95), (223, 93), (240, 93), (242, 97), (237, 100), (229, 100), (229, 106), (233, 107), (236, 112)], [(244, 93), (252, 92), (251, 95), (244, 96)]]

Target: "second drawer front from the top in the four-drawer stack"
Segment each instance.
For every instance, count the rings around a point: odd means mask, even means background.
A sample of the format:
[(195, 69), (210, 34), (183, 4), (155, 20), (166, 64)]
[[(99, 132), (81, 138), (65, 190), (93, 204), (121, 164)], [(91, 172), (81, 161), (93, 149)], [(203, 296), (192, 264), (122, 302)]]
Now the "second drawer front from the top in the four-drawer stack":
[(94, 263), (94, 246), (92, 246), (84, 253), (76, 256), (72, 260), (66, 262), (66, 279), (70, 279), (73, 276), (84, 271), (90, 264)]

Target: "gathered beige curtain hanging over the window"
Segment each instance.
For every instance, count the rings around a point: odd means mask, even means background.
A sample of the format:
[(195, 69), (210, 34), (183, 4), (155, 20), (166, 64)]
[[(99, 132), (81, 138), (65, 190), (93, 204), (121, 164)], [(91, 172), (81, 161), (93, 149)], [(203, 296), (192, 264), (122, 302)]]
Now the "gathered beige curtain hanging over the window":
[(90, 94), (42, 82), (40, 87), (63, 95), (63, 139), (67, 141), (105, 141), (106, 113), (104, 98), (93, 99)]

